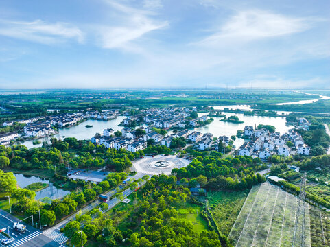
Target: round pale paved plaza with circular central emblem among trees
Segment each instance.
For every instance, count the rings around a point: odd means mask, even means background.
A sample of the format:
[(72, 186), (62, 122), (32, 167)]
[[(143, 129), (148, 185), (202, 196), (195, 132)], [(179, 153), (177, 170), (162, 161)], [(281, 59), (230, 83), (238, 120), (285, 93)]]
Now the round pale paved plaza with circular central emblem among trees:
[(189, 165), (189, 161), (177, 156), (145, 156), (133, 161), (133, 167), (137, 172), (143, 172), (150, 175), (171, 174), (172, 169), (182, 168)]

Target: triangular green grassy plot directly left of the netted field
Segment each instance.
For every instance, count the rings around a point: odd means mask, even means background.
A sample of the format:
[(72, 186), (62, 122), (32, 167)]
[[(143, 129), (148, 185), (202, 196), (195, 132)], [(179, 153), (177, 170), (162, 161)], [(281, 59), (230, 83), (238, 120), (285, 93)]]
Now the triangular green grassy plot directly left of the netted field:
[[(248, 196), (246, 191), (219, 191), (211, 197), (209, 207), (213, 214), (217, 228), (228, 236), (241, 207)], [(209, 193), (208, 196), (211, 196)]]

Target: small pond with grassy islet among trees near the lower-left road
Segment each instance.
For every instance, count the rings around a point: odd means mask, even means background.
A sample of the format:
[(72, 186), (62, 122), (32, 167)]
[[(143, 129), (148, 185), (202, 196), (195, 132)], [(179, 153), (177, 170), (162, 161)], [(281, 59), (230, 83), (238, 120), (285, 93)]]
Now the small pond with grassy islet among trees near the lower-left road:
[(64, 189), (57, 189), (53, 183), (49, 182), (49, 180), (46, 180), (45, 178), (39, 178), (38, 176), (27, 176), (23, 174), (14, 174), (17, 180), (17, 184), (21, 188), (27, 187), (27, 185), (31, 185), (32, 183), (42, 182), (49, 184), (49, 187), (36, 192), (36, 200), (39, 200), (41, 198), (49, 197), (51, 199), (58, 199), (63, 198), (67, 194), (70, 193), (70, 191), (66, 191)]

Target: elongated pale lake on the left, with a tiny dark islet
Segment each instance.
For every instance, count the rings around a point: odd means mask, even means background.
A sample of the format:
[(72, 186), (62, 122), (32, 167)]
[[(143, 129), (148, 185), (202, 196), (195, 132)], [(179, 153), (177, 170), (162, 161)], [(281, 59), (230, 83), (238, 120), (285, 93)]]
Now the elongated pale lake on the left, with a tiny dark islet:
[[(41, 147), (43, 145), (44, 141), (47, 141), (49, 143), (50, 139), (52, 137), (64, 139), (64, 137), (75, 137), (78, 140), (87, 140), (91, 139), (95, 133), (103, 133), (103, 130), (106, 128), (113, 128), (113, 130), (121, 130), (123, 126), (118, 126), (123, 119), (126, 118), (124, 116), (118, 116), (115, 119), (111, 119), (108, 121), (102, 121), (102, 120), (94, 120), (94, 119), (89, 119), (87, 121), (82, 122), (78, 126), (73, 126), (70, 128), (60, 128), (59, 133), (51, 136), (51, 137), (44, 137), (38, 139), (41, 141), (40, 144), (33, 145), (33, 140), (30, 141), (25, 141), (22, 144), (25, 145), (27, 148), (37, 148)], [(86, 125), (91, 125), (93, 127), (91, 128), (86, 128)]]

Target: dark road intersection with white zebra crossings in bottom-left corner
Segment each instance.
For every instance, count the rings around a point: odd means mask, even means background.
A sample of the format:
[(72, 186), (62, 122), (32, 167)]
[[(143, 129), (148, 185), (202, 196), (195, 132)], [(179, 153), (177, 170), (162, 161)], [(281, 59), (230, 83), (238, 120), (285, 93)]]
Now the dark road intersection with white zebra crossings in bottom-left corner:
[[(53, 241), (53, 239), (50, 239), (49, 237), (46, 237), (45, 235), (43, 235), (42, 231), (32, 226), (25, 224), (25, 233), (19, 233), (13, 230), (12, 225), (14, 224), (14, 222), (20, 222), (20, 220), (10, 215), (10, 213), (7, 213), (6, 211), (0, 209), (0, 228), (9, 228), (9, 234), (12, 237), (12, 242), (7, 245), (8, 247), (61, 246), (60, 244), (58, 244), (58, 242)], [(8, 233), (8, 230), (5, 231), (5, 233)], [(1, 235), (1, 238), (4, 238), (3, 235)], [(0, 244), (0, 246), (3, 246), (3, 244)]]

